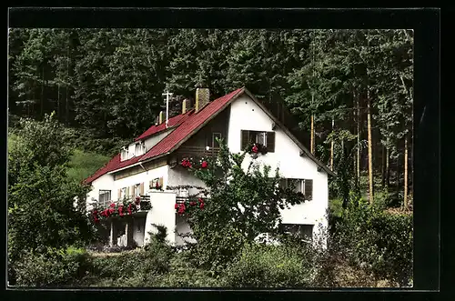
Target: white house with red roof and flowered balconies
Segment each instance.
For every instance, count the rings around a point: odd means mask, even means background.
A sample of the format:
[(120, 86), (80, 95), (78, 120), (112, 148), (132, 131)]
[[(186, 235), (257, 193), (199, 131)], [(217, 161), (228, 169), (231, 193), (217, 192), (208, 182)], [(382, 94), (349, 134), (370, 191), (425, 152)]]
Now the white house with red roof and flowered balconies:
[[(211, 156), (217, 153), (216, 137), (223, 138), (231, 152), (240, 152), (249, 141), (268, 146), (268, 153), (258, 161), (274, 170), (279, 166), (282, 184), (295, 181), (297, 189), (310, 200), (281, 211), (288, 231), (300, 231), (315, 236), (319, 226), (328, 226), (325, 217), (329, 203), (329, 168), (312, 156), (308, 149), (291, 134), (277, 115), (246, 88), (240, 88), (216, 100), (209, 101), (208, 89), (197, 89), (195, 107), (171, 118), (160, 114), (159, 121), (135, 142), (124, 147), (106, 166), (86, 179), (93, 189), (87, 197), (87, 209), (106, 207), (124, 197), (141, 196), (140, 209), (130, 215), (106, 219), (106, 237), (110, 245), (142, 246), (155, 225), (167, 226), (167, 239), (184, 244), (177, 235), (189, 230), (184, 217), (178, 216), (176, 202), (191, 191), (173, 191), (168, 186), (203, 183), (179, 163), (186, 156)], [(246, 160), (248, 161), (248, 160)], [(245, 168), (248, 162), (244, 162)], [(163, 190), (155, 189), (161, 186)], [(147, 198), (152, 209), (147, 207)], [(133, 243), (134, 242), (134, 243)]]

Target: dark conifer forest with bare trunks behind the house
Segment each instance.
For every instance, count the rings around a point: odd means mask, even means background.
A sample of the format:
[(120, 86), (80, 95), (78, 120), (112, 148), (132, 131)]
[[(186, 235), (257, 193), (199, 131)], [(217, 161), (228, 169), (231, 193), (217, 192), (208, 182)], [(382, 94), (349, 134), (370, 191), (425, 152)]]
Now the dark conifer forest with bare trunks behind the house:
[(337, 216), (353, 199), (412, 211), (412, 30), (10, 28), (8, 43), (10, 132), (53, 115), (78, 152), (96, 154), (91, 172), (155, 124), (165, 91), (177, 115), (197, 87), (215, 99), (246, 86), (279, 95), (337, 174)]

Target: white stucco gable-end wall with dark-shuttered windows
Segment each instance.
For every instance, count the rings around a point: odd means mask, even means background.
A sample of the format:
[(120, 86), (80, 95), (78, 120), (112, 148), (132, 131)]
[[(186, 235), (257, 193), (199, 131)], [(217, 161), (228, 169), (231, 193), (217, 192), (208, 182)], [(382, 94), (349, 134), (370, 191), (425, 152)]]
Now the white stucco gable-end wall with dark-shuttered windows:
[[(243, 95), (231, 105), (228, 129), (228, 147), (231, 152), (240, 152), (241, 130), (272, 131), (273, 120), (251, 100)], [(306, 156), (300, 156), (300, 149), (280, 128), (275, 129), (275, 152), (259, 155), (258, 164), (271, 166), (271, 175), (279, 167), (279, 173), (286, 178), (313, 180), (313, 200), (281, 211), (283, 223), (314, 225), (313, 234), (319, 222), (327, 226), (325, 218), (329, 206), (329, 186), (326, 172), (319, 172), (318, 166)], [(244, 168), (249, 164), (248, 157)]]

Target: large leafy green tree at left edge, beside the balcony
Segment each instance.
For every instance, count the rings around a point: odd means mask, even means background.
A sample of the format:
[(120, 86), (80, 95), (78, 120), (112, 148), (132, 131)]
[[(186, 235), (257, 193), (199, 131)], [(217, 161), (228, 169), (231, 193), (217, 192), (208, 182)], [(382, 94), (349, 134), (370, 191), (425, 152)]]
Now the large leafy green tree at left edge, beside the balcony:
[[(66, 176), (70, 153), (53, 118), (22, 120), (8, 152), (8, 251), (12, 260), (25, 251), (85, 244), (93, 235), (85, 204), (88, 187)], [(33, 126), (32, 126), (33, 125)]]

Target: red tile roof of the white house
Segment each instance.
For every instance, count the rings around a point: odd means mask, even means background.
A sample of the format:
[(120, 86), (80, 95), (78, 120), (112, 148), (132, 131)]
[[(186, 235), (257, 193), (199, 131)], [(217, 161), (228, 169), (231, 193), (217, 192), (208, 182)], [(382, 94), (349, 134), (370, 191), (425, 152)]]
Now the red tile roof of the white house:
[[(203, 124), (212, 116), (215, 116), (221, 109), (223, 109), (230, 100), (232, 100), (236, 95), (239, 95), (241, 92), (244, 91), (244, 88), (237, 89), (229, 93), (228, 95), (224, 95), (222, 97), (217, 98), (216, 100), (208, 103), (204, 106), (199, 112), (195, 113), (194, 110), (190, 110), (186, 114), (177, 115), (168, 120), (169, 126), (174, 126), (173, 131), (167, 135), (163, 140), (157, 143), (157, 145), (153, 146), (144, 156), (136, 156), (129, 160), (120, 161), (120, 154), (114, 156), (109, 162), (107, 162), (106, 166), (101, 167), (98, 169), (95, 174), (89, 176), (84, 180), (84, 183), (90, 184), (95, 181), (98, 177), (106, 175), (109, 172), (114, 170), (131, 166), (136, 164), (139, 161), (144, 161), (155, 156), (160, 156), (167, 154), (176, 148), (180, 143), (183, 143), (193, 134), (195, 130), (202, 127)], [(161, 125), (152, 125), (150, 128), (147, 129), (142, 135), (139, 135), (135, 141), (144, 139), (147, 136), (157, 134), (166, 129), (165, 124)]]

